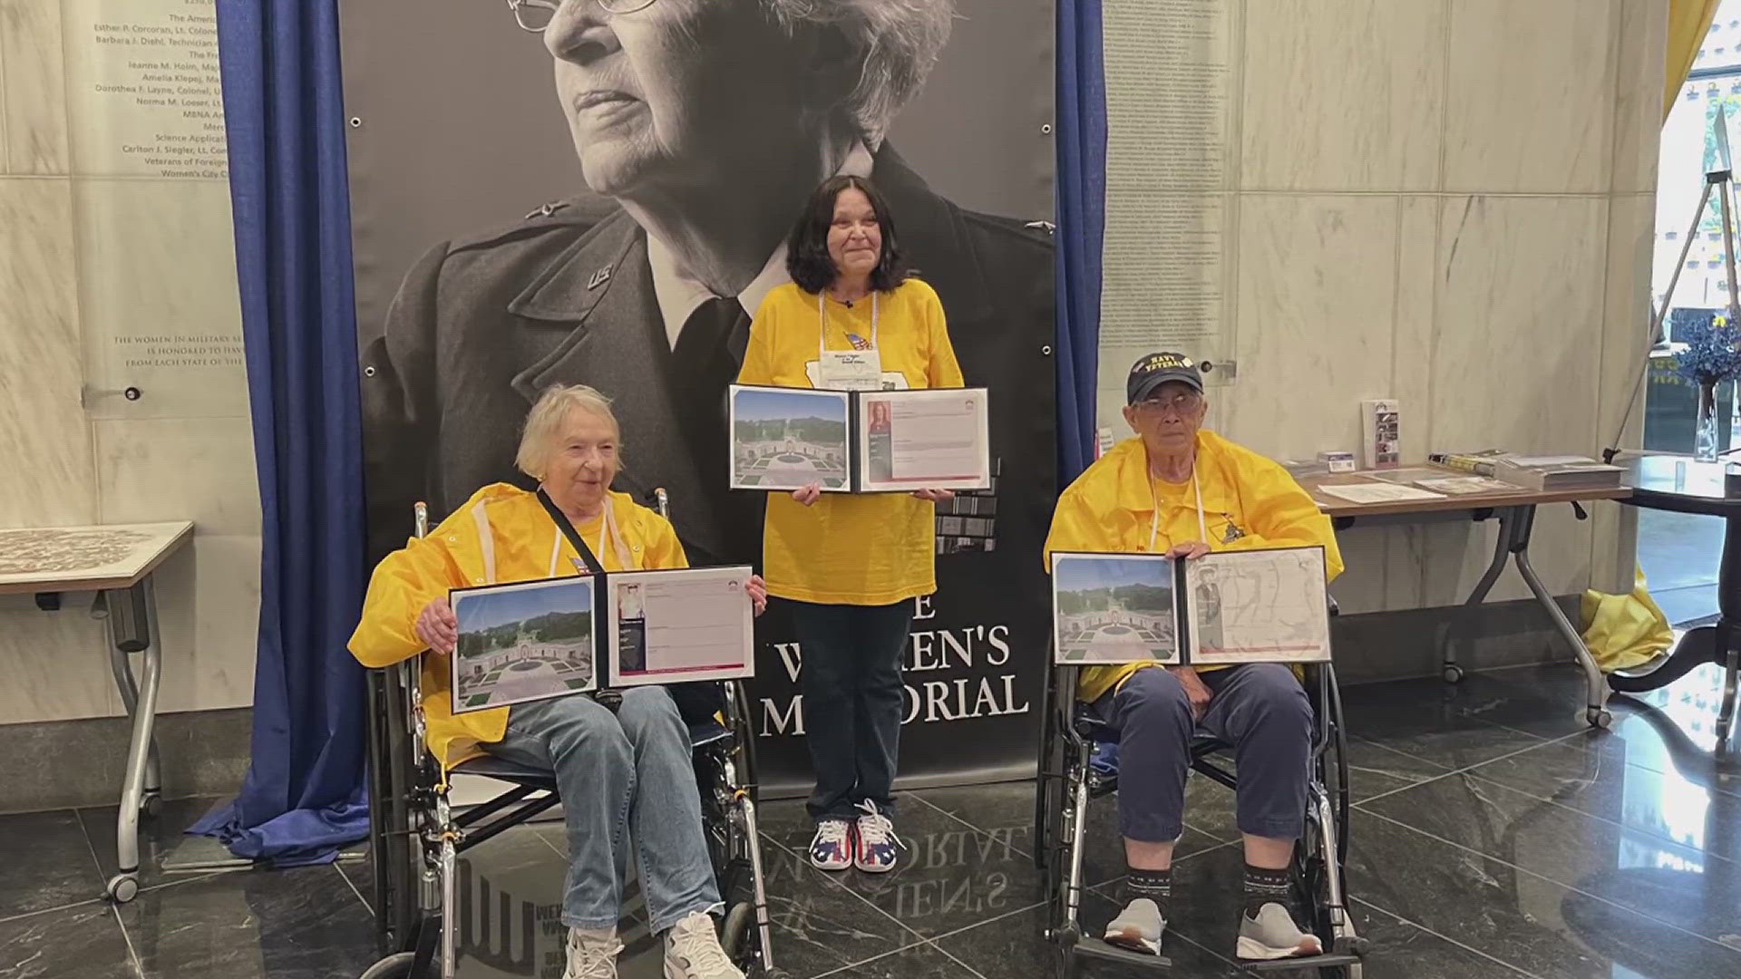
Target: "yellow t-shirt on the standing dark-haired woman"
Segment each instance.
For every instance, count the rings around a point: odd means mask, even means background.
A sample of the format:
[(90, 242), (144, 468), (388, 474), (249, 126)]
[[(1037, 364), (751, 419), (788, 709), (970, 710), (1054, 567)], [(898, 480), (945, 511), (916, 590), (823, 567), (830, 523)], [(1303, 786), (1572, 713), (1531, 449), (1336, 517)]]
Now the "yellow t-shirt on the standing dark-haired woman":
[[(876, 350), (883, 376), (898, 373), (909, 388), (965, 387), (949, 345), (944, 305), (918, 279), (877, 296)], [(815, 387), (818, 343), (851, 350), (848, 333), (870, 340), (872, 303), (848, 308), (825, 300), (827, 333), (817, 294), (789, 282), (768, 293), (743, 355), (738, 383)], [(937, 591), (937, 505), (907, 493), (823, 493), (804, 507), (787, 493), (768, 495), (763, 577), (768, 592), (822, 604), (893, 604)]]

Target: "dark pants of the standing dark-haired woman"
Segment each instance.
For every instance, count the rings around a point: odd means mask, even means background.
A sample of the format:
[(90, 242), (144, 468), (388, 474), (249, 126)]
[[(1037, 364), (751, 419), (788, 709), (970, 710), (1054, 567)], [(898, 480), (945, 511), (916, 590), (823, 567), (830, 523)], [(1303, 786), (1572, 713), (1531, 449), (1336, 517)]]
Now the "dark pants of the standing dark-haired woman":
[(893, 815), (900, 657), (912, 603), (789, 604), (804, 652), (804, 740), (817, 770), (810, 815), (851, 819), (865, 800)]

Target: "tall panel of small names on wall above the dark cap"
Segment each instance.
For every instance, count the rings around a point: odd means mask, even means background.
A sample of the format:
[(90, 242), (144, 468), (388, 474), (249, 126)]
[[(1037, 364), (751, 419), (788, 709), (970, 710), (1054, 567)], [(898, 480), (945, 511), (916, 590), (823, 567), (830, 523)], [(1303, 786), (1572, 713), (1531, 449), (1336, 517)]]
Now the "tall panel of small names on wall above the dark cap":
[(1116, 418), (1125, 373), (1142, 354), (1170, 347), (1198, 359), (1224, 355), (1231, 7), (1227, 0), (1102, 7), (1102, 425)]

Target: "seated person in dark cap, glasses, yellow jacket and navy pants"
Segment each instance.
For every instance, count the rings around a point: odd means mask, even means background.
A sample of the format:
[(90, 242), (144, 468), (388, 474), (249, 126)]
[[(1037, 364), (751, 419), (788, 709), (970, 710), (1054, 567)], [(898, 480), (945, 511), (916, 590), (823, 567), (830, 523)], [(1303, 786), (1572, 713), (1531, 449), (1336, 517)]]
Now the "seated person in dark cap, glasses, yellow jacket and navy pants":
[[(1327, 573), (1342, 559), (1335, 535), (1285, 469), (1203, 430), (1203, 376), (1180, 354), (1151, 354), (1125, 381), (1125, 422), (1137, 432), (1064, 491), (1046, 537), (1053, 550), (1166, 552), (1323, 545)], [(1151, 667), (1151, 669), (1144, 669)], [(1288, 864), (1306, 831), (1313, 707), (1280, 664), (1226, 669), (1123, 664), (1085, 669), (1076, 690), (1119, 737), (1118, 820), (1126, 901), (1106, 941), (1158, 955), (1172, 902), (1173, 843), (1184, 833), (1191, 740), (1208, 733), (1236, 751), (1236, 815), (1245, 843), (1238, 956), (1320, 955), (1297, 923)]]

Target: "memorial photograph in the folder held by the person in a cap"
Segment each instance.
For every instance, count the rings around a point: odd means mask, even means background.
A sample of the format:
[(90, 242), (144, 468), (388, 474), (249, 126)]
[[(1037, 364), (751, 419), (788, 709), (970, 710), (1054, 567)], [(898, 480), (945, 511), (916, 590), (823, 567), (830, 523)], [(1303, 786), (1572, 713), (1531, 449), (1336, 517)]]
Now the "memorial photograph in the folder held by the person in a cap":
[(1179, 660), (1170, 561), (1055, 554), (1052, 587), (1057, 662)]

